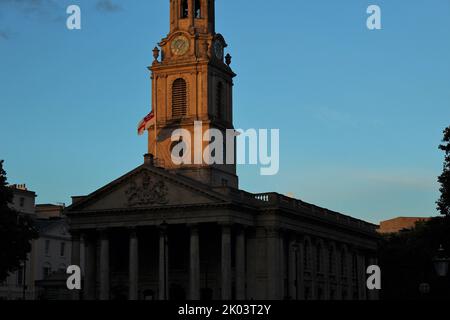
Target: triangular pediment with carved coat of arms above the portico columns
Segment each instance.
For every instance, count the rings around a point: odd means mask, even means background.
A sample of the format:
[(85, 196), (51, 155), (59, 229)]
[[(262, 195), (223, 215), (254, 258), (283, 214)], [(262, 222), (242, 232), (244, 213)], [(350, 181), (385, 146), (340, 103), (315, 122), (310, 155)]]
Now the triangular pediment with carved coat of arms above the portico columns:
[(224, 203), (207, 186), (164, 169), (143, 165), (68, 208), (73, 211), (145, 209)]

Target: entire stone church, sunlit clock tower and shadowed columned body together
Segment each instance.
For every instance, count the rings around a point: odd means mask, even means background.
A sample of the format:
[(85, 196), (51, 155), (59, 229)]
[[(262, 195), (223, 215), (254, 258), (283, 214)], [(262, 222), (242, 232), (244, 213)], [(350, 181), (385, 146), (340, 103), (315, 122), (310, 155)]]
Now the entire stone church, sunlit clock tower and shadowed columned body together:
[(172, 161), (174, 130), (233, 129), (235, 73), (214, 0), (170, 6), (170, 33), (149, 67), (154, 123), (143, 164), (66, 209), (81, 298), (377, 299), (366, 288), (375, 225), (240, 190), (233, 164)]

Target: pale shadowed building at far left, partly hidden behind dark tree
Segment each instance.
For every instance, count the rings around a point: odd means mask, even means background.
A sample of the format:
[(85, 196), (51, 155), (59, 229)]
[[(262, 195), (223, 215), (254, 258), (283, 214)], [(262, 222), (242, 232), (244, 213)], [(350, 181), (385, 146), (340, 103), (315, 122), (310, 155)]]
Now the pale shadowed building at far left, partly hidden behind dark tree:
[[(71, 236), (63, 205), (35, 205), (36, 193), (25, 184), (10, 186), (13, 192), (11, 207), (19, 214), (27, 215), (38, 232), (38, 238), (31, 241), (31, 251), (17, 271), (0, 283), (0, 300), (36, 300), (46, 295), (46, 288), (40, 284), (55, 273), (64, 274), (70, 265)], [(58, 290), (64, 296), (65, 281)], [(54, 297), (52, 295), (51, 297)], [(51, 298), (50, 298), (51, 299)]]

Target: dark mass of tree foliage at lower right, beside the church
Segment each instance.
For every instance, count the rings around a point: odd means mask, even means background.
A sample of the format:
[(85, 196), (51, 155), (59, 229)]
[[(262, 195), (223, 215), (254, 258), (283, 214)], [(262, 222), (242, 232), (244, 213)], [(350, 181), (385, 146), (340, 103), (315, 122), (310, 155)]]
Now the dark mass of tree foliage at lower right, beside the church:
[[(433, 259), (440, 246), (450, 249), (450, 217), (435, 217), (419, 222), (411, 230), (384, 235), (380, 244), (383, 299), (450, 297), (450, 277), (438, 278)], [(428, 295), (419, 286), (431, 287)]]

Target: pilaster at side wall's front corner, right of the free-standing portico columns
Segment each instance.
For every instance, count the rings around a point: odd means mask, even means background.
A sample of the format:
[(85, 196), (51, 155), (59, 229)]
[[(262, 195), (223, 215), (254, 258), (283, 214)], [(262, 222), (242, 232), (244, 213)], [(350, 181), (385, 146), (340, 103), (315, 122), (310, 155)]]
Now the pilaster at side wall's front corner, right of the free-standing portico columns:
[(268, 277), (268, 299), (281, 300), (282, 277), (281, 277), (281, 252), (280, 231), (278, 228), (267, 230), (267, 277)]

